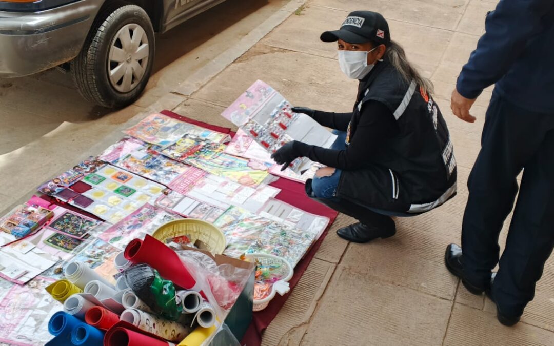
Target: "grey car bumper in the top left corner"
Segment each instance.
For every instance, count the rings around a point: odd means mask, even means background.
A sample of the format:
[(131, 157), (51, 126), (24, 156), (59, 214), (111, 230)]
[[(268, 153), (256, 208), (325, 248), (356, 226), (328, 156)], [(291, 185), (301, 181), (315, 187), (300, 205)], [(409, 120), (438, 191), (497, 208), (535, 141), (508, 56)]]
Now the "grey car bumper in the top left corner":
[(103, 1), (33, 13), (0, 11), (0, 77), (38, 73), (75, 58)]

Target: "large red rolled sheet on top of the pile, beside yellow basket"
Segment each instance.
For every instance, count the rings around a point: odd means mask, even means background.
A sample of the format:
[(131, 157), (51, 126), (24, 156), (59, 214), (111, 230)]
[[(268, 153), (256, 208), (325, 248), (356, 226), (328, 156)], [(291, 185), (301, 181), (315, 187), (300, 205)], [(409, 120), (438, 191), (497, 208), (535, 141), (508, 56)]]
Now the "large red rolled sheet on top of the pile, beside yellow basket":
[(145, 263), (155, 268), (161, 277), (186, 290), (191, 290), (196, 285), (196, 280), (181, 262), (179, 255), (150, 235), (146, 235), (144, 241), (131, 240), (125, 247), (125, 258), (134, 264)]

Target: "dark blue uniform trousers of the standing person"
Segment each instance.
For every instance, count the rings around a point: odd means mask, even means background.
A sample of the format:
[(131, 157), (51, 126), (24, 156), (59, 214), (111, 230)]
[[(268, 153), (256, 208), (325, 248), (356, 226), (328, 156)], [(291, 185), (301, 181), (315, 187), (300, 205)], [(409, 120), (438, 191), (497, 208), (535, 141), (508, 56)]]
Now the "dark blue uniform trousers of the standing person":
[[(506, 247), (499, 234), (523, 177)], [(521, 109), (496, 92), (486, 112), (481, 151), (468, 180), (462, 227), (464, 276), (487, 287), (499, 264), (493, 296), (504, 314), (519, 316), (554, 247), (554, 114)]]

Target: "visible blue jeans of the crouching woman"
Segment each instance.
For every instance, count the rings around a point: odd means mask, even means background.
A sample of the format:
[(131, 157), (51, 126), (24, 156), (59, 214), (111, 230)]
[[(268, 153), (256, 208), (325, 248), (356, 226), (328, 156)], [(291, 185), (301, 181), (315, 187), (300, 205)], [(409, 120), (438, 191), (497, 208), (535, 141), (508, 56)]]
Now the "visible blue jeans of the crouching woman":
[[(331, 149), (343, 150), (346, 149), (346, 132), (333, 130), (333, 133), (337, 135), (337, 139), (332, 144)], [(341, 179), (342, 170), (335, 168), (335, 172), (327, 177), (317, 177), (317, 175), (312, 179), (311, 188), (312, 188), (312, 198), (329, 198), (334, 202), (340, 202), (340, 198), (336, 197), (338, 182)], [(356, 202), (354, 202), (356, 203)], [(357, 203), (356, 203), (357, 204)], [(362, 205), (364, 208), (367, 208), (371, 211), (374, 211), (377, 214), (388, 215), (388, 216), (415, 216), (417, 214), (412, 213), (401, 213), (399, 211), (388, 211), (377, 208), (370, 208), (366, 205)]]

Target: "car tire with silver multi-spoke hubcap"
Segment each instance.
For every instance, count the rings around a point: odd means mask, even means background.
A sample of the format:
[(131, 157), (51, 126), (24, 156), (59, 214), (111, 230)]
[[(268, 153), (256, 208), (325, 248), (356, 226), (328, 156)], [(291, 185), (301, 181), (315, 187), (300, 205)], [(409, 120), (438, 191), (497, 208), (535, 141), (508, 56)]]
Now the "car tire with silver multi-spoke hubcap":
[(145, 89), (154, 55), (154, 30), (148, 14), (140, 6), (109, 2), (96, 16), (83, 49), (71, 61), (71, 71), (86, 100), (121, 108), (135, 102)]

